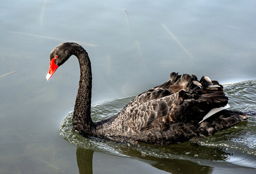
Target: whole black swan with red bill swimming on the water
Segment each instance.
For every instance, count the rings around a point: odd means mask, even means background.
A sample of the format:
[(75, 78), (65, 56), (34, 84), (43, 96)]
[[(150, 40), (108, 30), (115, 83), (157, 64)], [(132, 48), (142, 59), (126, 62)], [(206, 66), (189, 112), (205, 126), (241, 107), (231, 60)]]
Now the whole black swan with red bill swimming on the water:
[(196, 136), (212, 135), (247, 119), (244, 113), (226, 110), (228, 98), (217, 81), (207, 76), (198, 81), (194, 74), (171, 73), (166, 83), (139, 94), (115, 116), (93, 122), (91, 65), (82, 46), (61, 43), (54, 48), (46, 78), (49, 80), (71, 55), (80, 64), (72, 128), (85, 137), (125, 143), (180, 143)]

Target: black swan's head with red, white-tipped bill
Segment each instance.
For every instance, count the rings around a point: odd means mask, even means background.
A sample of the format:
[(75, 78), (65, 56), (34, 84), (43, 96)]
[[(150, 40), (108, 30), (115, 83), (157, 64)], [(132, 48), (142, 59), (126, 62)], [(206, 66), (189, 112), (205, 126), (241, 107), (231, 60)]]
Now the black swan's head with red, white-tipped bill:
[(65, 63), (68, 58), (73, 54), (74, 46), (78, 45), (77, 43), (61, 43), (56, 46), (50, 55), (50, 68), (49, 72), (46, 75), (46, 79), (49, 80), (53, 73), (57, 70), (59, 66)]

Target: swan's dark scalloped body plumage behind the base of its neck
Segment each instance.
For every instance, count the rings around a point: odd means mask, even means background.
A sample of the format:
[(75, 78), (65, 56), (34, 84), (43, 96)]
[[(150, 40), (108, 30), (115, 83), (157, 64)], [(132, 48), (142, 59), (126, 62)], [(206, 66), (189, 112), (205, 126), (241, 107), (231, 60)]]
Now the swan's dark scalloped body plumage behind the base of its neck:
[[(102, 126), (97, 131), (110, 139), (119, 136), (156, 144), (182, 142), (230, 127), (221, 118), (223, 112), (202, 120), (209, 111), (227, 102), (217, 81), (207, 76), (198, 81), (194, 74), (171, 73), (166, 83), (141, 93), (106, 122), (98, 122)], [(227, 117), (236, 118), (232, 125), (245, 119), (241, 113), (232, 114), (225, 112)]]

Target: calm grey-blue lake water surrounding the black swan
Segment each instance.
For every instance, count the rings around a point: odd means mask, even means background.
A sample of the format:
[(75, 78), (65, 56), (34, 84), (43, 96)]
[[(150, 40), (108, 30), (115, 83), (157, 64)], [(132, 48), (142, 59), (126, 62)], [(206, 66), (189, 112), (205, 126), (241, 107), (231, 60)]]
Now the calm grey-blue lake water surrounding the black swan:
[(72, 41), (91, 59), (94, 120), (117, 113), (171, 72), (245, 81), (225, 86), (229, 104), (255, 111), (255, 6), (254, 0), (1, 1), (0, 174), (255, 173), (256, 116), (178, 145), (86, 139), (69, 129), (77, 59), (45, 79), (51, 50)]

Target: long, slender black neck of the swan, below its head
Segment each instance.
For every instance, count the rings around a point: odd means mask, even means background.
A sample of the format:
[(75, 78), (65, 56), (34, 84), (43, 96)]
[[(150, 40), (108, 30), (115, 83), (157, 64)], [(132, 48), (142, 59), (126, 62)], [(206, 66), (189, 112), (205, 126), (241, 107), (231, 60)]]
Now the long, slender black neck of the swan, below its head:
[(73, 114), (73, 129), (84, 135), (93, 134), (95, 125), (91, 119), (91, 63), (85, 49), (78, 45), (73, 49), (80, 65), (80, 81)]

